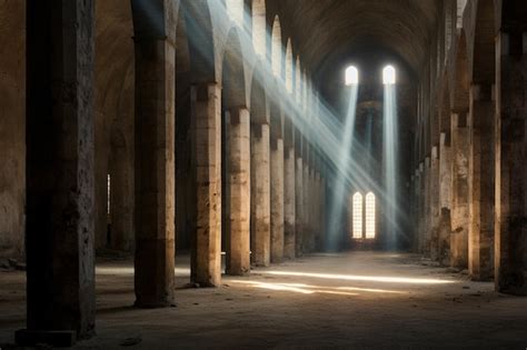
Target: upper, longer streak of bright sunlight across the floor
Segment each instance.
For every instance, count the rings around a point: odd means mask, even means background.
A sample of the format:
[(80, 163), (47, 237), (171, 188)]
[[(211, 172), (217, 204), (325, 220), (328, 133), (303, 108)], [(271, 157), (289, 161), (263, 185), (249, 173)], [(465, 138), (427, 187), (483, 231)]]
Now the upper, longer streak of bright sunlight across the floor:
[(406, 277), (386, 277), (386, 276), (357, 276), (357, 274), (330, 274), (330, 273), (309, 273), (292, 271), (261, 271), (264, 274), (290, 276), (290, 277), (310, 277), (320, 279), (334, 279), (342, 281), (365, 281), (365, 282), (386, 282), (386, 283), (408, 283), (408, 284), (447, 284), (453, 281), (428, 279), (428, 278), (406, 278)]

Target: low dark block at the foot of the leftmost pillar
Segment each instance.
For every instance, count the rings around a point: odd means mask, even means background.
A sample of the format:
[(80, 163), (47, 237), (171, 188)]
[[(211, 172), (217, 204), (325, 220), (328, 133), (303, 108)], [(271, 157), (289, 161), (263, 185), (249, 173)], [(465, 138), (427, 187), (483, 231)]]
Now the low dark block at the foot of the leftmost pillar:
[(77, 342), (77, 332), (20, 329), (14, 332), (14, 342), (18, 347), (47, 344), (57, 348), (70, 348)]

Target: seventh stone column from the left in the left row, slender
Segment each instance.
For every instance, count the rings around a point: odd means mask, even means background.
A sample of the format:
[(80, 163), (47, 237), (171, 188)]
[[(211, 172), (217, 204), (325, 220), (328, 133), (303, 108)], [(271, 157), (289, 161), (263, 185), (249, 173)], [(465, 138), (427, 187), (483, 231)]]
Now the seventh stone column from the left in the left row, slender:
[(295, 147), (287, 148), (284, 157), (284, 257), (295, 259)]

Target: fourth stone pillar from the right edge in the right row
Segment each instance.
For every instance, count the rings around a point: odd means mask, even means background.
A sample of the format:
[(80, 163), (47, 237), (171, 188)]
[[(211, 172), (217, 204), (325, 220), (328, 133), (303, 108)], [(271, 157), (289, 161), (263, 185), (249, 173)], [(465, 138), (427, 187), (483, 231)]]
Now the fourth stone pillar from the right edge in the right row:
[(451, 150), (450, 132), (443, 132), (439, 141), (439, 232), (438, 261), (443, 266), (450, 266), (450, 208), (451, 208)]

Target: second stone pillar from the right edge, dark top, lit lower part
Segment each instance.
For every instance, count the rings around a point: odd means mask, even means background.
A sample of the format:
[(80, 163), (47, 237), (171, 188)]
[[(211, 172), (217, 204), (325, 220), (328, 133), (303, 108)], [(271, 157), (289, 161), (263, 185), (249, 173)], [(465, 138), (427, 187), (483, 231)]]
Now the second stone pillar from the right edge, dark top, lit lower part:
[(494, 277), (494, 113), (491, 86), (470, 88), (468, 270), (473, 280)]

